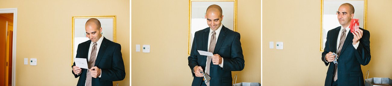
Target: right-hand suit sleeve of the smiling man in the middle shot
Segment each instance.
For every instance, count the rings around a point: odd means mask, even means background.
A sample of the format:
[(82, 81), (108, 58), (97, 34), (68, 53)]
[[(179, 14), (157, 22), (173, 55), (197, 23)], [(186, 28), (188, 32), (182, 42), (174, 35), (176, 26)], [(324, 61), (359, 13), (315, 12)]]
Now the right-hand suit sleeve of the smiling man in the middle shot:
[(222, 70), (227, 71), (241, 71), (245, 67), (245, 60), (242, 54), (242, 47), (240, 42), (240, 33), (234, 36), (233, 43), (231, 45), (231, 57), (223, 57), (225, 63), (223, 63)]

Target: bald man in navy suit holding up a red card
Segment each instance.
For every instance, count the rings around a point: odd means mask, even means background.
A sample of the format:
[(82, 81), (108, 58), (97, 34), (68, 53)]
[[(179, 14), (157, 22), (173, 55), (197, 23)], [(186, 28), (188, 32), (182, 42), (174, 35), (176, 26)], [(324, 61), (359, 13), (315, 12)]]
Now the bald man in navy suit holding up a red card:
[[(341, 26), (329, 30), (321, 60), (328, 66), (325, 86), (365, 86), (361, 65), (370, 61), (370, 33), (359, 28), (350, 32), (350, 22), (354, 17), (354, 7), (345, 3), (340, 5), (338, 21)], [(335, 61), (336, 53), (338, 56)]]

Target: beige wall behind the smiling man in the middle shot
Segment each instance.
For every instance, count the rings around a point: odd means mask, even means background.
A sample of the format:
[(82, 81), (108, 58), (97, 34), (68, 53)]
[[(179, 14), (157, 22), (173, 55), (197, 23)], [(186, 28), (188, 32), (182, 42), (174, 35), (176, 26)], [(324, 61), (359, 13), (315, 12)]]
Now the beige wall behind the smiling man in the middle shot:
[[(239, 0), (237, 31), (245, 68), (237, 82), (261, 82), (260, 0)], [(190, 86), (188, 0), (132, 0), (132, 85)], [(150, 53), (136, 44), (151, 45)]]

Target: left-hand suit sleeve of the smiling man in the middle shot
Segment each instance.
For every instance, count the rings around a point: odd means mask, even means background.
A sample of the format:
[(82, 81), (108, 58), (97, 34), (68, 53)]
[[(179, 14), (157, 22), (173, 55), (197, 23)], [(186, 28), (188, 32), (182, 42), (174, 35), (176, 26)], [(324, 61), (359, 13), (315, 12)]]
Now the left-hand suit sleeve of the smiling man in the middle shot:
[(194, 36), (192, 48), (191, 48), (191, 55), (188, 57), (188, 66), (191, 68), (191, 73), (192, 73), (193, 77), (195, 77), (195, 74), (193, 73), (193, 68), (195, 66), (198, 66), (196, 46), (197, 46), (196, 36)]

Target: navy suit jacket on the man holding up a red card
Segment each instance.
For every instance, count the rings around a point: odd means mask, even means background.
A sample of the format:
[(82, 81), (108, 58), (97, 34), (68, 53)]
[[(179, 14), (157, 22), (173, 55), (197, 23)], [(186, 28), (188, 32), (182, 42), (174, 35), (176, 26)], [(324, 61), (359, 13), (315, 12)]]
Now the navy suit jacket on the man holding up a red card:
[[(327, 77), (325, 78), (325, 86), (331, 86), (334, 74), (335, 64), (333, 62), (325, 62), (325, 55), (329, 52), (336, 53), (336, 44), (341, 26), (328, 31), (325, 49), (321, 55), (321, 60), (328, 66)], [(363, 73), (361, 65), (367, 65), (370, 61), (370, 33), (363, 30), (363, 36), (359, 39), (357, 49), (352, 45), (354, 35), (350, 31), (340, 51), (338, 59), (338, 85), (339, 86), (365, 86), (363, 81)]]

